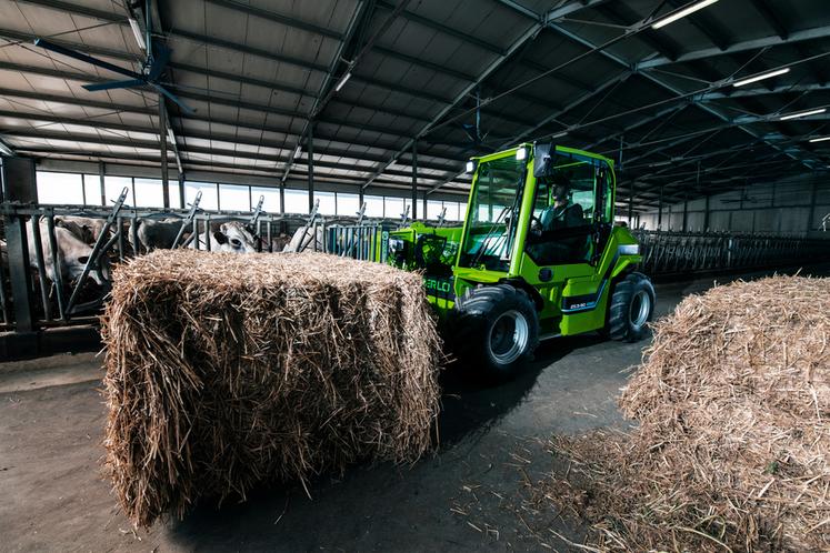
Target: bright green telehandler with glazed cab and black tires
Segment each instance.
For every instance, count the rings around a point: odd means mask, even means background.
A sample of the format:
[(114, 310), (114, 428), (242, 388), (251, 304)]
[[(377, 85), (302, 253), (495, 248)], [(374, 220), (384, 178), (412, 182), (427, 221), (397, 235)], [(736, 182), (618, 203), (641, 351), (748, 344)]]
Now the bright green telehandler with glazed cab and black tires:
[[(614, 224), (613, 161), (551, 143), (471, 159), (463, 224), (390, 231), (383, 258), (420, 270), (454, 353), (508, 378), (540, 340), (643, 336), (654, 289), (639, 244)], [(386, 235), (386, 233), (384, 233)]]

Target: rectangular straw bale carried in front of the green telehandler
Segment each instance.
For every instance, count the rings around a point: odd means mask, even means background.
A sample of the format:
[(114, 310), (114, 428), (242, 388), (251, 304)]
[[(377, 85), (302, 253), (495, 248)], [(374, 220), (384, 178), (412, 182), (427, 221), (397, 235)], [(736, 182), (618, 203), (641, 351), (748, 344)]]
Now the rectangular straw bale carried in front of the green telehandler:
[(106, 471), (136, 524), (430, 446), (440, 349), (418, 274), (157, 251), (114, 272), (102, 329)]

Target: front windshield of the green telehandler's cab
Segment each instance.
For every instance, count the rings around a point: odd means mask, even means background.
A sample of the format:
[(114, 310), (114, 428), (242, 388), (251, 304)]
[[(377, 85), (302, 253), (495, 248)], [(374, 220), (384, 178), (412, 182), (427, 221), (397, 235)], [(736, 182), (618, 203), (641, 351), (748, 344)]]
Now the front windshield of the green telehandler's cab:
[(461, 267), (507, 271), (516, 240), (526, 162), (514, 155), (482, 162), (473, 191)]

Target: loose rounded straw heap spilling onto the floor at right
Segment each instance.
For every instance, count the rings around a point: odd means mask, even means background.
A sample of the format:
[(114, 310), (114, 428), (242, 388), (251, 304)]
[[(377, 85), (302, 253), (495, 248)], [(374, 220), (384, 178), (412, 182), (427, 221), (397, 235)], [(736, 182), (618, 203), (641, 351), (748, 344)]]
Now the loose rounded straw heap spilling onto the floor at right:
[(653, 328), (639, 428), (552, 439), (542, 495), (599, 551), (829, 551), (830, 280), (718, 286)]

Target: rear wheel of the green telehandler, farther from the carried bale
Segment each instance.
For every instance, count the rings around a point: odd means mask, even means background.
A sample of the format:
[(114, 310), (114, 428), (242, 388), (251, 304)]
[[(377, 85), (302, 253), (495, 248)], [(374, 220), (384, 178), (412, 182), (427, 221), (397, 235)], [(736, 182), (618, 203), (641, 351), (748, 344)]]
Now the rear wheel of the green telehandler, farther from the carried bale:
[(608, 308), (608, 338), (636, 342), (648, 332), (654, 314), (654, 286), (648, 276), (632, 272), (617, 282)]

